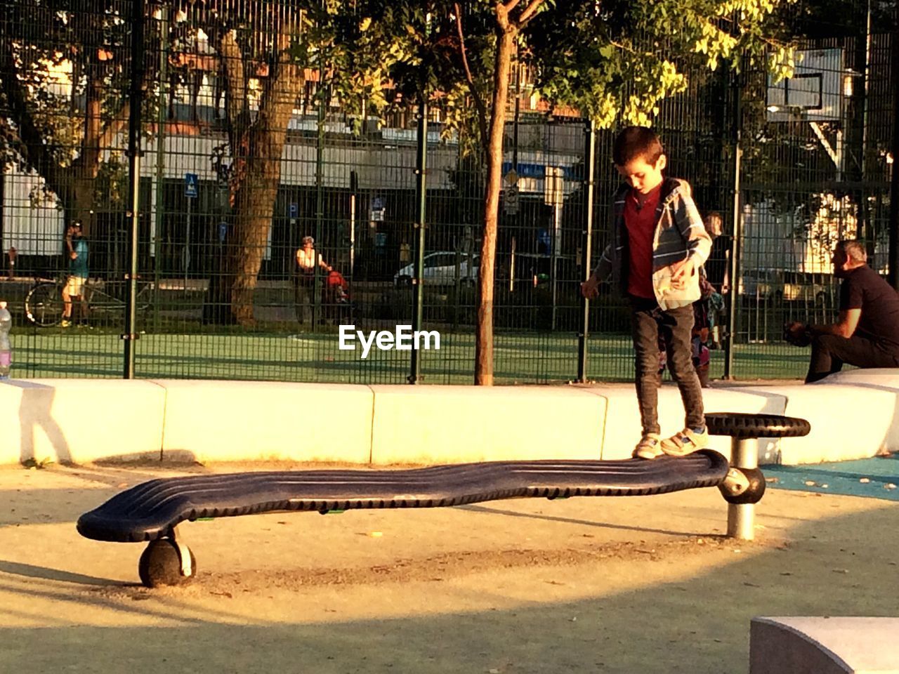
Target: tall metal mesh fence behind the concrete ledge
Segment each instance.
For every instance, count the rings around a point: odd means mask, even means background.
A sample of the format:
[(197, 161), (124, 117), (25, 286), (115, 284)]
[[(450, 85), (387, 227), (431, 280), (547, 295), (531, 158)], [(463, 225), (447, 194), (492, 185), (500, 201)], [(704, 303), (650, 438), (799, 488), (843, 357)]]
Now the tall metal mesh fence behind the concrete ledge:
[[(364, 105), (350, 114), (321, 64), (278, 61), (289, 8), (259, 5), (256, 39), (243, 44), (200, 25), (191, 4), (153, 5), (134, 50), (134, 3), (0, 2), (0, 297), (15, 314), (14, 376), (119, 377), (131, 349), (137, 377), (403, 383), (414, 373), (410, 351), (371, 349), (363, 358), (358, 340), (356, 350), (339, 348), (339, 326), (369, 333), (412, 324), (421, 280), (423, 326), (440, 334), (440, 349), (417, 353), (419, 380), (472, 381), (484, 184), (476, 139), (448, 129), (439, 104), (426, 127), (398, 101), (381, 119)], [(781, 341), (782, 326), (834, 315), (836, 239), (864, 238), (872, 266), (888, 271), (890, 35), (803, 47), (786, 83), (748, 65), (740, 74), (691, 73), (689, 91), (663, 102), (654, 120), (669, 173), (725, 223), (713, 263), (729, 268), (728, 291), (711, 338), (720, 346), (712, 377), (804, 373), (806, 354)], [(129, 109), (135, 54), (139, 114)], [(585, 314), (579, 295), (585, 264), (595, 264), (609, 234), (615, 131), (554, 114), (522, 81), (513, 85), (503, 157), (496, 381), (627, 380), (627, 307), (604, 288)], [(128, 153), (129, 124), (139, 157)], [(421, 208), (424, 273), (415, 279)], [(59, 297), (75, 220), (84, 223), (90, 272), (64, 327)], [(132, 231), (137, 315), (129, 324)], [(315, 253), (299, 253), (306, 236)], [(298, 254), (314, 262), (312, 274)]]

